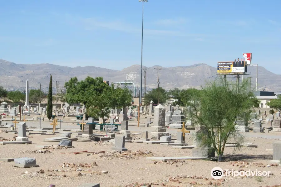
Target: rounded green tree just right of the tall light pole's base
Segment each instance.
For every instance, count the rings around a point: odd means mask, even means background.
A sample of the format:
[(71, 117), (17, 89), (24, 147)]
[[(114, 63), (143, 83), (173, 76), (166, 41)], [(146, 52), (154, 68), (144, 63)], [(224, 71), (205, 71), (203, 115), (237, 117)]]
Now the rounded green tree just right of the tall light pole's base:
[[(158, 89), (152, 89), (148, 93), (146, 93), (146, 101), (145, 104), (149, 103), (150, 101), (153, 101), (153, 103), (158, 103)], [(168, 92), (159, 87), (159, 102), (160, 103), (166, 103), (166, 100), (169, 99)]]

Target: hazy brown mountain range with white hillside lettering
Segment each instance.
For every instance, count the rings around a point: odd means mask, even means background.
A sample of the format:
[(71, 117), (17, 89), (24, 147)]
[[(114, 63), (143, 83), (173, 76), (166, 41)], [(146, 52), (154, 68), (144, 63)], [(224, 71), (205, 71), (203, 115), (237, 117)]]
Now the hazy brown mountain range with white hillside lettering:
[[(216, 62), (214, 63), (216, 65)], [(177, 66), (165, 68), (160, 65), (145, 67), (146, 87), (155, 88), (157, 84), (157, 70), (159, 68), (159, 86), (164, 89), (173, 88), (200, 88), (206, 81), (214, 80), (218, 77), (217, 68), (206, 64), (194, 64), (190, 66)], [(143, 71), (144, 72), (144, 71)], [(140, 86), (140, 65), (131, 65), (123, 70), (111, 70), (95, 66), (74, 68), (53, 64), (15, 64), (6, 60), (0, 60), (0, 85), (7, 90), (24, 91), (26, 80), (29, 81), (30, 89), (41, 88), (47, 92), (49, 86), (50, 74), (52, 74), (53, 87), (56, 87), (56, 81), (59, 83), (59, 89), (71, 77), (77, 77), (78, 80), (85, 79), (88, 75), (91, 77), (103, 77), (104, 80), (112, 82), (133, 82), (136, 87)], [(256, 66), (248, 66), (248, 74), (244, 75), (251, 78), (252, 88), (256, 85)], [(144, 73), (143, 73), (144, 76)], [(229, 78), (234, 76), (228, 76)], [(241, 77), (241, 76), (240, 76)], [(143, 79), (144, 86), (144, 79)], [(274, 74), (264, 67), (258, 67), (258, 89), (281, 91), (281, 75)]]

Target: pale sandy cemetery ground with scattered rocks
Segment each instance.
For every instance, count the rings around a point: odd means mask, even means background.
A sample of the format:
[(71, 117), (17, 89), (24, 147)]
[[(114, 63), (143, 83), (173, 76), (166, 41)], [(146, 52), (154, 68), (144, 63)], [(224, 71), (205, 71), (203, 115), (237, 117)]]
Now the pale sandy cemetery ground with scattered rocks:
[[(9, 117), (9, 116), (8, 116)], [(7, 117), (7, 118), (8, 118)], [(32, 118), (29, 116), (28, 118)], [(63, 119), (62, 129), (77, 130), (79, 126), (73, 117)], [(5, 122), (5, 121), (3, 121)], [(2, 123), (3, 123), (2, 122)], [(8, 124), (11, 122), (7, 121)], [(27, 121), (28, 127), (39, 127), (39, 121)], [(27, 129), (30, 129), (28, 128)], [(60, 125), (57, 126), (59, 128)], [(96, 126), (98, 129), (99, 126)], [(51, 128), (50, 121), (42, 121), (41, 128)], [(119, 126), (120, 128), (120, 126)], [(12, 139), (13, 132), (3, 132), (0, 137)], [(142, 131), (151, 132), (151, 127), (136, 126), (136, 121), (129, 122), (129, 130), (134, 139), (141, 135), (132, 135)], [(179, 129), (167, 129), (176, 139)], [(57, 129), (57, 131), (60, 131)], [(192, 130), (191, 130), (192, 132)], [(101, 132), (96, 132), (101, 133)], [(102, 132), (105, 134), (105, 132)], [(54, 148), (58, 142), (45, 142), (45, 138), (59, 135), (28, 135), (32, 144), (8, 144), (0, 146), (0, 158), (35, 158), (39, 167), (18, 168), (13, 162), (0, 161), (2, 186), (79, 186), (83, 183), (100, 183), (101, 186), (274, 186), (281, 183), (281, 166), (271, 164), (273, 159), (272, 143), (279, 141), (280, 132), (246, 133), (245, 142), (252, 142), (258, 148), (241, 147), (233, 154), (233, 147), (224, 151), (225, 161), (210, 160), (172, 160), (154, 161), (147, 157), (192, 156), (192, 149), (175, 149), (172, 146), (126, 142), (128, 151), (114, 152), (111, 142), (73, 141), (74, 148)], [(71, 135), (74, 137), (75, 135)], [(276, 139), (274, 139), (276, 138)], [(186, 134), (186, 143), (193, 144), (192, 135)], [(37, 146), (50, 147), (42, 148)], [(53, 147), (52, 147), (53, 146)], [(40, 150), (40, 151), (39, 151)], [(45, 151), (47, 150), (47, 151)], [(67, 152), (88, 151), (81, 154), (62, 154)], [(104, 153), (90, 153), (104, 151)], [(221, 180), (211, 178), (214, 167), (233, 170), (271, 171), (272, 175), (262, 177), (223, 177)], [(281, 184), (280, 184), (281, 185)]]

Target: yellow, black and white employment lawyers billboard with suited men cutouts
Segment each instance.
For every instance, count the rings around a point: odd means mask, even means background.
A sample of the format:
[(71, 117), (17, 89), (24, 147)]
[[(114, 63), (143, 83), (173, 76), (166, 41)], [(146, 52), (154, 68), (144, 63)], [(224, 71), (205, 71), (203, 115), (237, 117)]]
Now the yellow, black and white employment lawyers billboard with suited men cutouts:
[(247, 72), (247, 63), (244, 61), (234, 61), (234, 62), (218, 62), (219, 74), (243, 74)]

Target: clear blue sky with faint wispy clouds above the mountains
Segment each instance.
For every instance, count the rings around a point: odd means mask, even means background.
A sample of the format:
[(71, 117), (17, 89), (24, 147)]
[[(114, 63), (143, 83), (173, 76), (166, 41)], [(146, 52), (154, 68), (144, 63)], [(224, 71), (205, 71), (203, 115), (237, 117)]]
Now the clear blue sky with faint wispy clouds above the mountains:
[[(280, 74), (280, 0), (149, 0), (143, 65), (232, 61)], [(141, 61), (138, 0), (9, 0), (0, 6), (0, 59), (121, 70)]]

